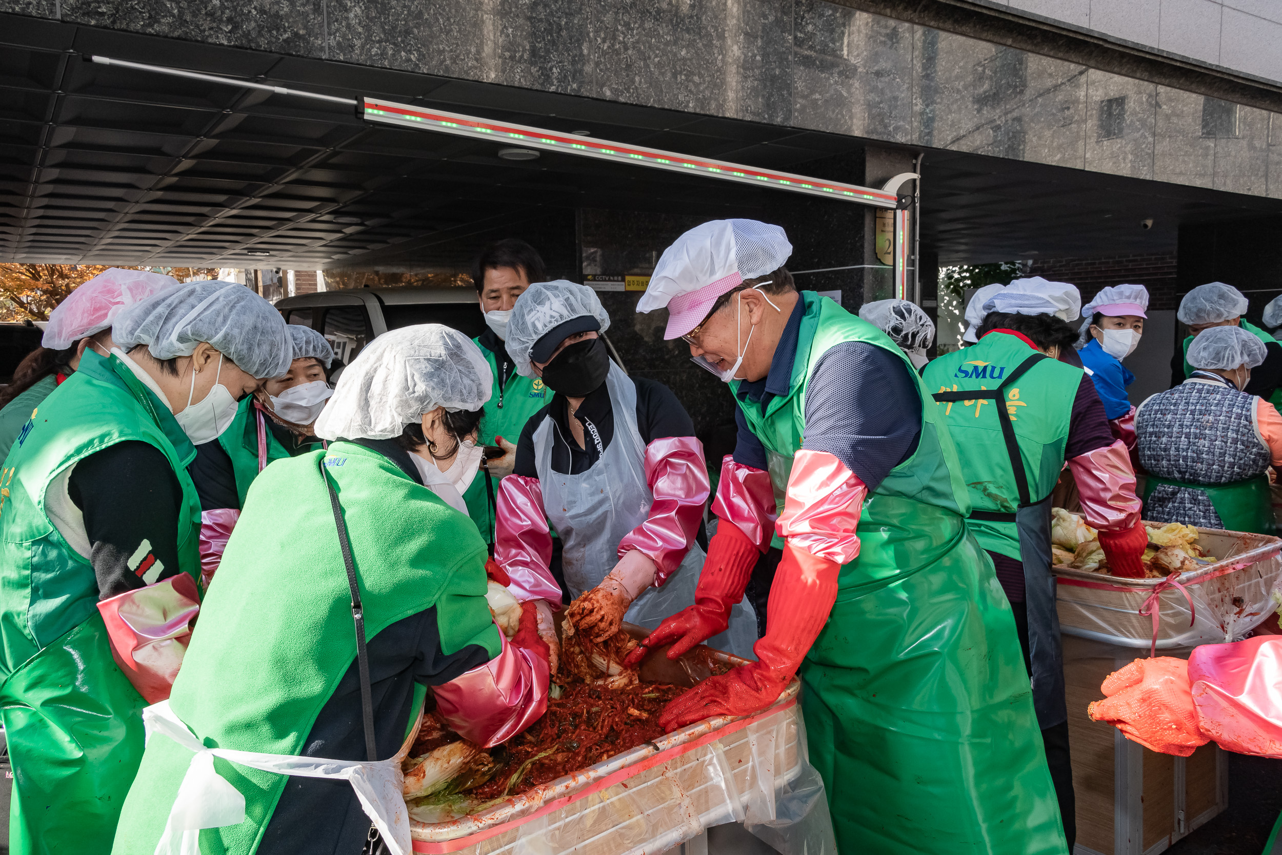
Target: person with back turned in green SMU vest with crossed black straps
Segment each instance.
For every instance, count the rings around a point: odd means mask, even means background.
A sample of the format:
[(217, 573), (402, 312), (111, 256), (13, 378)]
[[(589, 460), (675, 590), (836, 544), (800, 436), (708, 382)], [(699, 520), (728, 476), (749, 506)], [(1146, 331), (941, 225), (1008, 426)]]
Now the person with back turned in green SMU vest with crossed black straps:
[(969, 528), (992, 559), (1015, 614), (1072, 851), (1073, 769), (1050, 572), (1051, 491), (1065, 461), (1114, 576), (1144, 577), (1140, 558), (1149, 537), (1140, 524), (1127, 447), (1113, 438), (1095, 385), (1081, 368), (1058, 360), (1077, 338), (1054, 314), (1070, 287), (1047, 282), (1041, 304), (1036, 292), (995, 294), (978, 344), (940, 356), (922, 378), (937, 390), (937, 411), (953, 440), (967, 449), (962, 476), (970, 492)]

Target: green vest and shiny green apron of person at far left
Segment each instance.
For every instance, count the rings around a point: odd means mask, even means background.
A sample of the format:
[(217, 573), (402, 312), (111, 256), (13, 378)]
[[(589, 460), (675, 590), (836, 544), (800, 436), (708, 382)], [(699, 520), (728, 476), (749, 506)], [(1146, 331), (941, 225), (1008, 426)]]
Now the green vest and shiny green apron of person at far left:
[(5, 461), (0, 491), (0, 715), (14, 768), (14, 854), (105, 852), (142, 756), (146, 701), (117, 668), (97, 578), (45, 513), (67, 467), (117, 442), (160, 450), (182, 487), (178, 569), (197, 577), (195, 449), (159, 399), (115, 356), (92, 351), (37, 408)]

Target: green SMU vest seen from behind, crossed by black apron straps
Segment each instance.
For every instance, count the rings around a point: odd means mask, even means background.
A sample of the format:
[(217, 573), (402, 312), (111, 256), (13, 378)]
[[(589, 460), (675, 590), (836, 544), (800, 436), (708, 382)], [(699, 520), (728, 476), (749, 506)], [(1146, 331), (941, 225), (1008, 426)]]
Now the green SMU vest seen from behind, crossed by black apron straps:
[[(979, 344), (945, 354), (922, 372), (931, 390), (962, 392), (994, 390), (1037, 351), (1017, 336), (992, 332)], [(1028, 504), (1050, 495), (1064, 468), (1064, 446), (1073, 414), (1073, 400), (1083, 372), (1054, 359), (1037, 361), (1014, 383), (1005, 387), (1006, 413), (1014, 428), (1019, 458), (1028, 479)], [(949, 433), (965, 451), (963, 474), (970, 492), (973, 510), (991, 514), (1014, 514), (1020, 505), (1010, 452), (1003, 438), (996, 401), (970, 399), (937, 404)], [(1015, 560), (1019, 535), (1015, 520), (978, 519), (972, 514), (970, 531), (986, 550)]]

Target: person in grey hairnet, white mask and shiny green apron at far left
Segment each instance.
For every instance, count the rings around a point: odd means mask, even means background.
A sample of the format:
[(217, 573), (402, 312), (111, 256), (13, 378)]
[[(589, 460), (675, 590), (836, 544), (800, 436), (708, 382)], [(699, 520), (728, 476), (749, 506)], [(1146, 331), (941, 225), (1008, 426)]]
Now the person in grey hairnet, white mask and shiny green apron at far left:
[(235, 282), (128, 306), (104, 359), (23, 427), (0, 494), (0, 688), (13, 852), (105, 852), (197, 610), (194, 445), (290, 365), (285, 319)]

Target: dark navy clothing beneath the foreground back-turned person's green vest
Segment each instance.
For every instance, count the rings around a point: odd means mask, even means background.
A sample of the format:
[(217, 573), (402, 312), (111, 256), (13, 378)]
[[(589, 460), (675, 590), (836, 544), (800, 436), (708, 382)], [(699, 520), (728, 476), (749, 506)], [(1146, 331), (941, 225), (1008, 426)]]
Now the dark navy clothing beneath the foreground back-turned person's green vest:
[[(394, 440), (351, 441), (378, 451), (415, 483), (423, 483), (409, 452)], [(341, 573), (342, 568), (337, 572)], [(392, 623), (369, 640), (367, 650), (379, 759), (396, 754), (405, 741), (415, 683), (440, 686), (490, 660), (488, 651), (479, 645), (468, 645), (453, 654), (441, 650), (436, 606)], [(364, 760), (365, 731), (360, 705), (360, 674), (353, 661), (333, 695), (320, 708), (299, 754)], [(432, 705), (428, 692), (427, 709)], [(369, 826), (369, 817), (360, 809), (356, 793), (346, 781), (291, 776), (286, 779), (258, 851), (264, 855), (356, 855)]]

